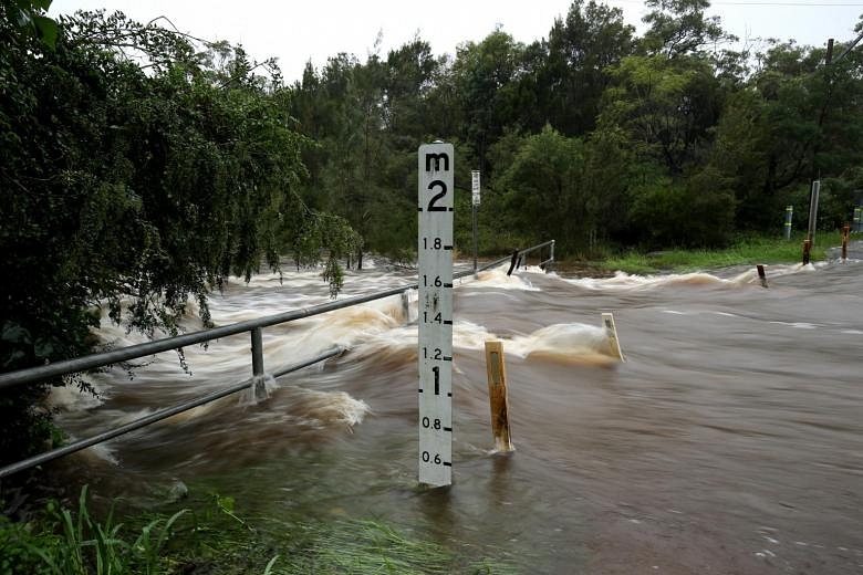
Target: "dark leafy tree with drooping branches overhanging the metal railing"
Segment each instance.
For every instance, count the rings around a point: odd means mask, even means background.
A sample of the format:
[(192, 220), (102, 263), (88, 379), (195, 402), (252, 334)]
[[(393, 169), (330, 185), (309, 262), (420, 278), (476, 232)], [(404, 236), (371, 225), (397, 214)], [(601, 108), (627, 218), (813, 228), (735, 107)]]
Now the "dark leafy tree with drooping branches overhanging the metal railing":
[[(0, 253), (15, 278), (0, 289), (3, 369), (90, 352), (102, 307), (176, 334), (194, 299), (210, 325), (210, 290), (278, 269), (285, 238), (303, 238), (305, 259), (356, 244), (299, 197), (306, 140), (271, 62), (121, 13), (63, 18), (49, 46), (9, 18), (41, 3), (2, 6)], [(334, 268), (325, 279), (341, 286)], [(45, 387), (0, 393), (2, 462), (42, 447)]]

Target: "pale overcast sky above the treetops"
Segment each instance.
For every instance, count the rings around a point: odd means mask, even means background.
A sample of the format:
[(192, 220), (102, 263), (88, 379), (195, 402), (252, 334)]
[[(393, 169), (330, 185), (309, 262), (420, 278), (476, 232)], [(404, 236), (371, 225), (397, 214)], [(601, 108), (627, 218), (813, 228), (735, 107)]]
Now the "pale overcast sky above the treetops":
[[(643, 2), (607, 3), (622, 8), (626, 21), (643, 31)], [(54, 0), (50, 13), (105, 8), (143, 22), (165, 15), (181, 32), (242, 43), (257, 60), (278, 56), (284, 79), (293, 81), (309, 60), (321, 66), (339, 52), (364, 60), (378, 32), (382, 55), (417, 33), (436, 55), (454, 54), (456, 45), (481, 40), (496, 24), (528, 43), (545, 38), (554, 18), (565, 15), (569, 6), (569, 0)], [(855, 36), (863, 1), (729, 0), (714, 2), (710, 13), (721, 17), (725, 29), (741, 39), (823, 45), (828, 38), (842, 42)]]

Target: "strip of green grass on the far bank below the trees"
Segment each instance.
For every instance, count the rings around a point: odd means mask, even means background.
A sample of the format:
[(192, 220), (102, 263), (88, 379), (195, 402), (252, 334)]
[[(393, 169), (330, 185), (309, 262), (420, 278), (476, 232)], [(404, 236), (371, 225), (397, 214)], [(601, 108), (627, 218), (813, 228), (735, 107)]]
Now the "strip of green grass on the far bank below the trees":
[[(841, 243), (839, 232), (819, 233), (811, 260), (823, 260), (826, 250)], [(661, 252), (628, 252), (607, 258), (595, 264), (606, 271), (626, 273), (689, 272), (695, 270), (725, 268), (729, 265), (755, 265), (758, 263), (798, 263), (802, 261), (803, 239), (791, 241), (769, 238), (749, 238), (734, 245), (717, 250), (673, 249)]]

